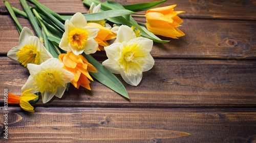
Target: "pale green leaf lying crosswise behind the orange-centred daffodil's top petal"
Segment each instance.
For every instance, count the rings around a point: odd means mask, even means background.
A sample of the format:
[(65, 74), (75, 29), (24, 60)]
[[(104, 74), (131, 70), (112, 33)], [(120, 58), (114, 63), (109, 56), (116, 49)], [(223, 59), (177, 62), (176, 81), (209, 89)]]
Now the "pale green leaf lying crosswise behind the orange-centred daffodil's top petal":
[[(124, 10), (124, 9), (118, 9), (118, 10), (109, 10), (109, 11), (103, 11), (103, 12), (97, 12), (97, 13), (88, 13), (83, 14), (84, 17), (86, 17), (87, 21), (97, 21), (102, 20), (110, 17), (116, 17), (116, 16), (123, 16), (123, 15), (130, 15), (130, 14), (136, 14), (135, 12), (132, 12), (130, 10)], [(72, 16), (60, 16), (63, 20), (71, 19)]]

